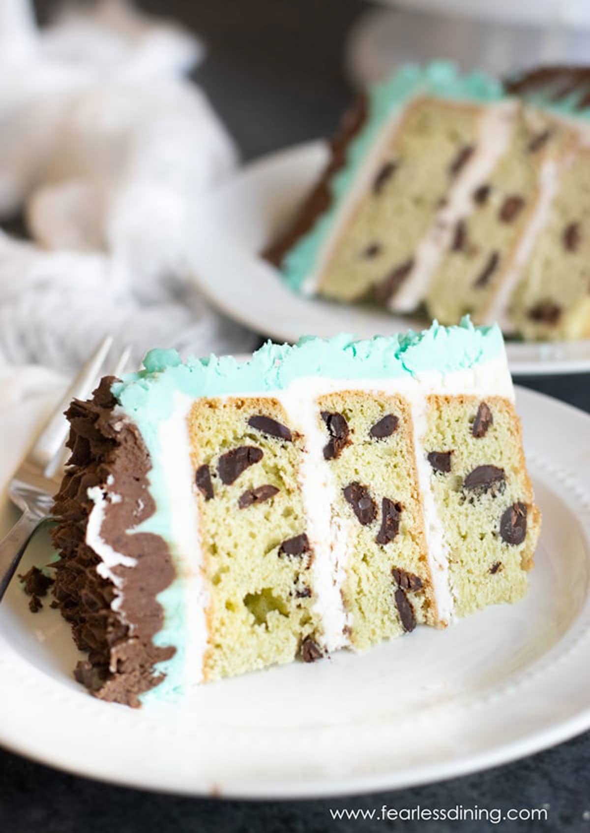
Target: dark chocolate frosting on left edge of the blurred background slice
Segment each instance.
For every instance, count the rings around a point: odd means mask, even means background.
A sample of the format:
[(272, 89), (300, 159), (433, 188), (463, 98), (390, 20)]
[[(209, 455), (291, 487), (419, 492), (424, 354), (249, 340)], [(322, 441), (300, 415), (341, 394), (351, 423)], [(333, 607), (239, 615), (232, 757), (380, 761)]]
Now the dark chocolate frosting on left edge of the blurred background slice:
[(366, 121), (368, 103), (369, 99), (366, 95), (360, 96), (354, 107), (345, 112), (338, 132), (330, 141), (330, 160), (320, 177), (320, 181), (317, 182), (305, 199), (295, 219), (290, 222), (290, 225), (280, 237), (263, 252), (262, 257), (265, 257), (275, 267), (280, 267), (285, 254), (300, 237), (310, 231), (317, 217), (320, 217), (320, 214), (323, 214), (330, 207), (332, 201), (330, 180), (336, 172), (340, 171), (341, 167), (345, 166), (348, 146)]

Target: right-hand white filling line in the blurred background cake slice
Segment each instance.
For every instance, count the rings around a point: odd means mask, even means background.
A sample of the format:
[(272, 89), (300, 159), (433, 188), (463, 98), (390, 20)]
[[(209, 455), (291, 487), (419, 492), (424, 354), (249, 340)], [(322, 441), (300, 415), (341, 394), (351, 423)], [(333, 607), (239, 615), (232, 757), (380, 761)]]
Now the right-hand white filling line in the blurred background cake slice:
[(508, 318), (510, 297), (512, 297), (513, 290), (518, 283), (523, 267), (525, 267), (528, 258), (533, 253), (533, 247), (535, 242), (537, 242), (538, 235), (543, 231), (543, 228), (549, 221), (549, 217), (551, 217), (551, 207), (553, 205), (553, 199), (558, 193), (560, 176), (568, 164), (572, 162), (572, 159), (573, 157), (570, 156), (561, 165), (558, 165), (558, 162), (554, 159), (548, 158), (541, 165), (538, 176), (539, 195), (537, 205), (533, 210), (533, 216), (520, 238), (512, 265), (505, 274), (503, 282), (485, 315), (486, 322), (498, 322), (503, 332), (512, 332), (514, 329), (512, 322)]

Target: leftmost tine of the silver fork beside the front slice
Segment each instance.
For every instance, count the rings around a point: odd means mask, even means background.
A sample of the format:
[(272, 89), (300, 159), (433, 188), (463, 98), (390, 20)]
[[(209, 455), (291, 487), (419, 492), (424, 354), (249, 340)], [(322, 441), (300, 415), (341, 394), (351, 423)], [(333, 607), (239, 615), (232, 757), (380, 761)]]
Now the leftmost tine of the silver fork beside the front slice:
[(44, 426), (37, 442), (27, 454), (27, 462), (40, 469), (45, 469), (57, 455), (66, 440), (69, 426), (63, 416), (72, 399), (85, 399), (97, 382), (101, 367), (112, 347), (112, 336), (106, 336), (98, 345), (92, 356), (82, 365), (80, 372), (68, 387), (57, 408)]

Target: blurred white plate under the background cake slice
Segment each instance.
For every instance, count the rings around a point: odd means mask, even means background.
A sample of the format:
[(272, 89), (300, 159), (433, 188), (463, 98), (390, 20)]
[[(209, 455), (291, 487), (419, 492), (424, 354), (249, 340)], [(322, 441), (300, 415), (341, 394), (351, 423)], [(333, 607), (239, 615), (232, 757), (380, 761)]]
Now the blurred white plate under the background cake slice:
[[(369, 338), (427, 327), (424, 320), (379, 309), (295, 295), (260, 259), (260, 251), (315, 182), (325, 158), (323, 142), (275, 153), (245, 167), (208, 197), (187, 232), (194, 279), (226, 315), (279, 342), (338, 332)], [(590, 371), (590, 341), (508, 344), (508, 361), (517, 374)]]

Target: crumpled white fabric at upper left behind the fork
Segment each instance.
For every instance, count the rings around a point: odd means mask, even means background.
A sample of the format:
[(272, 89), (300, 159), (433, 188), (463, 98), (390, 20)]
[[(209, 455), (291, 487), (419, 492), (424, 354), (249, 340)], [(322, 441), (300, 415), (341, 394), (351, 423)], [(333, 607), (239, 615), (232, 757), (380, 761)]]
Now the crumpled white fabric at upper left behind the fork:
[(0, 235), (0, 362), (69, 372), (104, 332), (135, 361), (253, 347), (188, 279), (193, 209), (236, 163), (183, 76), (202, 53), (122, 0), (42, 31), (0, 2), (0, 212), (24, 206), (34, 238)]

